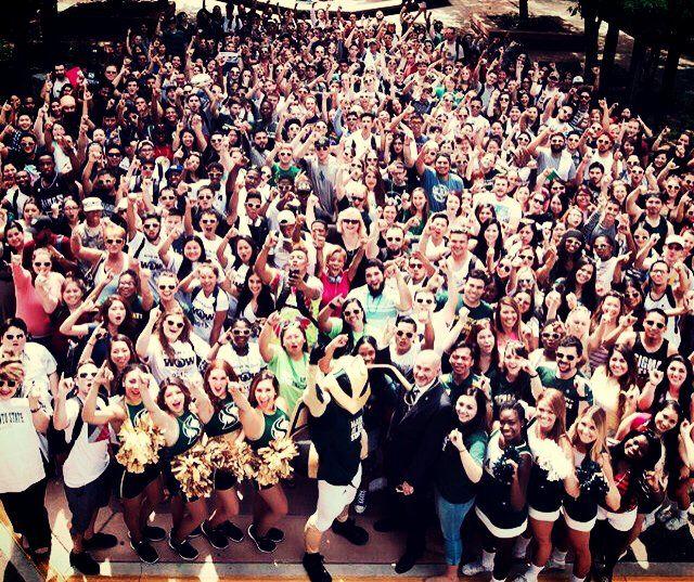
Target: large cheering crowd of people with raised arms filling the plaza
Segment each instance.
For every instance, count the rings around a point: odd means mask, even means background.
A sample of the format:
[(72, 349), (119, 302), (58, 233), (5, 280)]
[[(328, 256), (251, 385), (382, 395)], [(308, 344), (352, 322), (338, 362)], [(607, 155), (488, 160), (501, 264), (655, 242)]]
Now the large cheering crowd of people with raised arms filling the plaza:
[[(267, 449), (306, 408), (313, 582), (367, 507), (407, 531), (398, 573), (440, 525), (437, 582), (567, 552), (611, 580), (656, 519), (687, 526), (692, 133), (424, 4), (171, 5), (95, 49), (0, 111), (0, 501), (37, 560), (49, 479), (88, 575), (115, 497), (144, 562), (201, 534), (274, 552), (286, 481), (255, 483), (244, 532), (234, 473), (204, 497), (171, 464), (205, 435)], [(142, 417), (163, 453), (132, 471)]]

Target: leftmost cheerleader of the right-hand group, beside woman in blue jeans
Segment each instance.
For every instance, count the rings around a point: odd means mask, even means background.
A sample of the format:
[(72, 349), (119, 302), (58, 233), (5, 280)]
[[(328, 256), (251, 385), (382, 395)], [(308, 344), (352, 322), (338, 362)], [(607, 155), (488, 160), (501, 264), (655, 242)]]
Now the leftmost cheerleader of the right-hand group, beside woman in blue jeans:
[[(475, 507), (475, 513), (486, 530), (483, 557), (480, 561), (463, 566), (462, 572), (465, 575), (493, 569), (492, 582), (501, 582), (509, 578), (513, 545), (528, 525), (526, 491), (532, 454), (527, 443), (525, 425), (523, 404), (514, 400), (501, 404), (499, 429), (489, 437), (485, 470)], [(510, 458), (503, 463), (505, 457)], [(510, 471), (504, 470), (507, 467), (511, 468)], [(511, 475), (506, 477), (506, 473)]]

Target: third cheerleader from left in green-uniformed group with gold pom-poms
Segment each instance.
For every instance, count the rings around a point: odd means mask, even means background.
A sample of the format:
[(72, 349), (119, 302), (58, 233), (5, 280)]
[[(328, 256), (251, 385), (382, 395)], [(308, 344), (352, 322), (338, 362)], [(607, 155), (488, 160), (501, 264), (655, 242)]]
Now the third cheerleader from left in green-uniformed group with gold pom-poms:
[[(223, 437), (231, 443), (242, 437), (239, 409), (234, 402), (230, 385), (239, 384), (239, 377), (228, 362), (214, 360), (205, 371), (203, 386), (215, 410), (211, 419), (205, 425), (208, 437)], [(215, 470), (215, 510), (209, 521), (203, 523), (203, 535), (213, 547), (223, 549), (229, 541), (243, 541), (243, 530), (230, 519), (239, 515), (239, 496), (236, 495), (236, 476), (230, 470)]]

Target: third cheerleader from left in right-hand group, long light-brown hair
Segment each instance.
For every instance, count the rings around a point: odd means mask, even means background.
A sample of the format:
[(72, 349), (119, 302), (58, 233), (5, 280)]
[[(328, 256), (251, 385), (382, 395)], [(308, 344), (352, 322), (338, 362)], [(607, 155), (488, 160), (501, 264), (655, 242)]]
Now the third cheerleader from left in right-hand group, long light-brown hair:
[[(564, 567), (566, 546), (574, 549), (571, 582), (582, 582), (590, 571), (590, 533), (597, 518), (597, 503), (613, 512), (619, 508), (619, 491), (615, 484), (607, 451), (607, 414), (600, 406), (586, 409), (568, 431), (574, 466), (582, 475), (578, 497), (564, 495), (562, 514), (566, 526), (552, 553), (552, 565)], [(607, 492), (589, 490), (591, 475), (599, 475)], [(586, 487), (584, 487), (586, 486)]]

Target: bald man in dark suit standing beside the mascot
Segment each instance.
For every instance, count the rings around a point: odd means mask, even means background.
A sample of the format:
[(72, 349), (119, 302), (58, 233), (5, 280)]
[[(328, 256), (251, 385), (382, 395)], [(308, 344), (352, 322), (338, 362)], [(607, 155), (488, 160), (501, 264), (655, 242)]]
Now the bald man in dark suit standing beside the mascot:
[(403, 516), (408, 539), (404, 554), (396, 564), (407, 572), (424, 553), (427, 492), (432, 465), (449, 427), (452, 406), (439, 383), (441, 358), (433, 350), (420, 352), (414, 361), (414, 387), (403, 391), (396, 405), (386, 438), (385, 470), (391, 493), (390, 516), (376, 522), (378, 531), (395, 529), (395, 516)]

